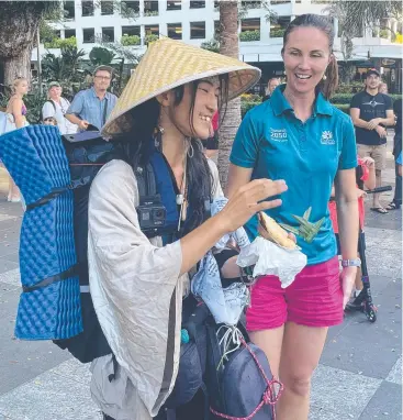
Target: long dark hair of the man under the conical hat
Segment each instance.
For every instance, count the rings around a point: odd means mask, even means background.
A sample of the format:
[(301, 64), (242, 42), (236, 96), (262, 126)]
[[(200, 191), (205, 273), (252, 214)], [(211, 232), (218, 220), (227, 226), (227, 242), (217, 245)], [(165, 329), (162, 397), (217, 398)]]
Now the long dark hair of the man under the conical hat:
[[(191, 82), (191, 108), (189, 113), (189, 122), (193, 135), (193, 112), (194, 100), (198, 86), (201, 80)], [(219, 98), (219, 113), (220, 117), (225, 115), (226, 103), (228, 98), (228, 77), (227, 75), (220, 76), (221, 93)], [(173, 89), (175, 103), (177, 107), (183, 99), (184, 86), (179, 86)], [(153, 144), (155, 132), (158, 129), (158, 121), (160, 114), (160, 104), (156, 98), (139, 104), (130, 111), (130, 119), (133, 121), (131, 130), (125, 134), (123, 144), (128, 161), (133, 167), (137, 165), (146, 165), (153, 153)], [(188, 179), (188, 202), (191, 214), (188, 214), (188, 220), (184, 223), (182, 234), (198, 228), (204, 221), (204, 206), (205, 200), (211, 198), (212, 174), (208, 159), (203, 153), (203, 146), (199, 139), (192, 136), (190, 139), (191, 150), (190, 156), (188, 155), (187, 164), (187, 179)]]

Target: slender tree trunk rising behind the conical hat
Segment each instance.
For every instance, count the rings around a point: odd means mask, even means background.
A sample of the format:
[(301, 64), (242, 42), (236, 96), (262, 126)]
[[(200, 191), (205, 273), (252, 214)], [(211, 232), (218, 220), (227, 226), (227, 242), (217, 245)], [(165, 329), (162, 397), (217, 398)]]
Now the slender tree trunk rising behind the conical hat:
[[(238, 2), (236, 0), (220, 1), (220, 53), (238, 58)], [(228, 176), (230, 153), (239, 124), (240, 99), (237, 98), (228, 103), (219, 131), (219, 173), (224, 189)]]

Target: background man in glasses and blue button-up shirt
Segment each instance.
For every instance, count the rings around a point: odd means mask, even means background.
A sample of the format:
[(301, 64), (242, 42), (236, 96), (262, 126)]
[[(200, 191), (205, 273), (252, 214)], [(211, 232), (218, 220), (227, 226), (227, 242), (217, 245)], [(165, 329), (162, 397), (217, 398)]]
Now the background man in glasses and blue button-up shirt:
[(112, 67), (97, 67), (93, 71), (93, 86), (78, 92), (68, 108), (65, 117), (77, 124), (80, 131), (86, 131), (90, 124), (101, 130), (111, 114), (117, 100), (115, 95), (108, 91), (112, 75)]

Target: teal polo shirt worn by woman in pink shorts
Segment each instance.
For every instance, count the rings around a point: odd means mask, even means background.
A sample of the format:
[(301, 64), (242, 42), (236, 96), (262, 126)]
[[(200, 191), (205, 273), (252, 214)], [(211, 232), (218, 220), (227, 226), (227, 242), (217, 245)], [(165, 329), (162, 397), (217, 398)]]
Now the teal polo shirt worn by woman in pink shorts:
[[(320, 264), (336, 255), (336, 241), (328, 211), (332, 185), (337, 170), (357, 166), (355, 130), (351, 119), (318, 93), (312, 115), (302, 122), (282, 95), (279, 86), (270, 100), (251, 109), (244, 118), (234, 140), (231, 163), (253, 168), (253, 179), (284, 179), (288, 190), (282, 205), (267, 213), (277, 222), (299, 230), (298, 245), (307, 264)], [(311, 213), (306, 211), (311, 208)], [(316, 226), (307, 236), (301, 219)], [(257, 236), (257, 218), (246, 231)]]

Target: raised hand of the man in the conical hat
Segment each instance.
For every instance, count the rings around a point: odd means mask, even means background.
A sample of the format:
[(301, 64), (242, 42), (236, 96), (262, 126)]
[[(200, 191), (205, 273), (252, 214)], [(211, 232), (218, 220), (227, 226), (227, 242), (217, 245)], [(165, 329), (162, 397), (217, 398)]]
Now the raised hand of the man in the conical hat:
[(226, 232), (244, 225), (253, 215), (262, 210), (281, 206), (281, 200), (262, 201), (287, 191), (284, 180), (255, 179), (240, 187), (216, 215)]

